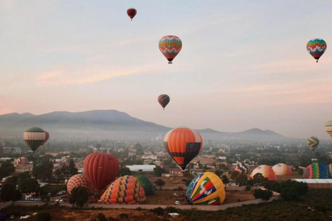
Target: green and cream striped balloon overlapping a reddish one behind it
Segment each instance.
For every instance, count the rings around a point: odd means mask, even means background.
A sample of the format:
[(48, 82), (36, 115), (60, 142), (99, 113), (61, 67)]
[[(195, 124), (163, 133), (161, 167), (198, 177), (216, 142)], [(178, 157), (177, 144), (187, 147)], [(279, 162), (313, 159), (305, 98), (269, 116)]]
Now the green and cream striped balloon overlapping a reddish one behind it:
[(30, 146), (31, 150), (36, 151), (46, 139), (46, 132), (39, 127), (28, 128), (24, 131), (23, 139)]

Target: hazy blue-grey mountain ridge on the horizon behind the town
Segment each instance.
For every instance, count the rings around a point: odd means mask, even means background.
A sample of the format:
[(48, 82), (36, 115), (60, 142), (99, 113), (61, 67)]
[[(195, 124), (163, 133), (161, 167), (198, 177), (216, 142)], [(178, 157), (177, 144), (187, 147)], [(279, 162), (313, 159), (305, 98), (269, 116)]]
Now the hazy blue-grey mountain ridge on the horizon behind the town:
[[(71, 113), (57, 111), (43, 115), (10, 113), (0, 115), (0, 137), (20, 137), (27, 128), (39, 126), (52, 138), (151, 140), (171, 130), (152, 122), (131, 117), (116, 110)], [(225, 133), (210, 128), (197, 130), (203, 140), (279, 140), (283, 135), (270, 130), (252, 128), (239, 133)]]

